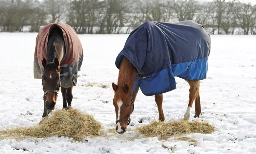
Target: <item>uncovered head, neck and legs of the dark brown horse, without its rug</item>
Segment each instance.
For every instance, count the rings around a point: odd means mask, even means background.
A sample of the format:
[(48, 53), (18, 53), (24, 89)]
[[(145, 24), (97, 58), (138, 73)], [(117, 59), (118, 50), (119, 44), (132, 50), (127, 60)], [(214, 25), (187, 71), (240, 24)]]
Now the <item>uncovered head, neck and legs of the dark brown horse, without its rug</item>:
[[(43, 118), (48, 116), (57, 102), (58, 90), (60, 88), (60, 64), (66, 54), (65, 42), (63, 33), (60, 29), (55, 28), (52, 30), (47, 43), (47, 60), (44, 58), (42, 61), (44, 70), (42, 75), (42, 85), (44, 90), (44, 113)], [(49, 63), (48, 63), (49, 62)], [(61, 87), (63, 108), (71, 108), (73, 99), (73, 87)], [(68, 105), (67, 105), (68, 102)]]

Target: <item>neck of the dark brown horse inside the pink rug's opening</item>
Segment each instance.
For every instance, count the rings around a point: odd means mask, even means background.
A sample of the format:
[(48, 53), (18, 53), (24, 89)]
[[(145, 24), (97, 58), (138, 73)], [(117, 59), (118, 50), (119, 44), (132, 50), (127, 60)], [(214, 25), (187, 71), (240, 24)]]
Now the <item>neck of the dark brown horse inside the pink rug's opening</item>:
[(63, 34), (54, 31), (48, 39), (47, 43), (47, 61), (53, 62), (55, 58), (58, 58), (59, 62), (63, 59), (66, 54), (65, 42)]

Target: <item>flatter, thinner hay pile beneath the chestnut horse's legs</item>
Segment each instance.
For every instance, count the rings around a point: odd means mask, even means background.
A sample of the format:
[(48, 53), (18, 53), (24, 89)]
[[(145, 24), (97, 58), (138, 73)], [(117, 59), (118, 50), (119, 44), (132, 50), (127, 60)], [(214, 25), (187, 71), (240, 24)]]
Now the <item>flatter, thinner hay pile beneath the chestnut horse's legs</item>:
[(138, 127), (137, 130), (147, 137), (158, 136), (163, 140), (167, 140), (171, 136), (180, 136), (190, 133), (210, 134), (215, 131), (214, 127), (209, 123), (188, 121), (175, 121), (169, 123), (153, 121), (149, 125)]

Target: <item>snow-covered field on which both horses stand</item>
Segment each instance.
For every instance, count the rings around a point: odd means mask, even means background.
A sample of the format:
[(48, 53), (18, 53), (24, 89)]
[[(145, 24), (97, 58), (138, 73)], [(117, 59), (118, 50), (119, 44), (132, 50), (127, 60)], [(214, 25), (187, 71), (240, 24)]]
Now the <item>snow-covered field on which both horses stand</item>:
[[(33, 79), (36, 33), (0, 33), (0, 130), (37, 125), (43, 114), (40, 79)], [(72, 106), (92, 114), (107, 129), (115, 128), (112, 82), (117, 83), (117, 54), (128, 35), (79, 35), (84, 61)], [(154, 96), (140, 91), (125, 134), (85, 138), (65, 137), (1, 140), (0, 153), (256, 153), (256, 36), (212, 35), (208, 77), (202, 80), (201, 118), (217, 129), (213, 134), (188, 134), (195, 144), (154, 138), (133, 139), (134, 129), (158, 119)], [(188, 84), (176, 78), (177, 89), (163, 94), (166, 121), (181, 120), (188, 105)], [(102, 88), (105, 85), (106, 88)], [(61, 94), (57, 108), (62, 107)], [(142, 123), (139, 123), (142, 122)], [(165, 146), (162, 146), (165, 145)], [(165, 147), (165, 148), (164, 148)]]

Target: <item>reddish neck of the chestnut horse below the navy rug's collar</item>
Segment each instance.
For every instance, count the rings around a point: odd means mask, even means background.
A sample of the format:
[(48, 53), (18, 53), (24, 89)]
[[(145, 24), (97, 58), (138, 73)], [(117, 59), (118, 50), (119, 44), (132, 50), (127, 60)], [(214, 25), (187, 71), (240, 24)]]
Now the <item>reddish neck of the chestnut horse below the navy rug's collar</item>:
[(125, 84), (128, 84), (130, 87), (130, 91), (132, 91), (136, 76), (136, 68), (132, 65), (129, 59), (123, 57), (119, 66), (117, 86), (124, 87)]

